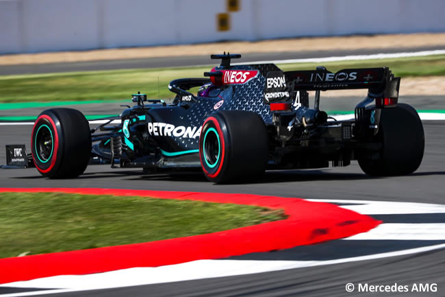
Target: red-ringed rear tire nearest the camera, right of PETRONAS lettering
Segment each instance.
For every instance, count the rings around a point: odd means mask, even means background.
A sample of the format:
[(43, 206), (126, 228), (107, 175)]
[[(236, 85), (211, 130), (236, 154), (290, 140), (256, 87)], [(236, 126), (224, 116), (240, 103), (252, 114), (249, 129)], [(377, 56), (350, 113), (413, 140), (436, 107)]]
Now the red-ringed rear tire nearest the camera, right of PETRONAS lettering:
[(223, 110), (209, 116), (199, 136), (199, 158), (207, 180), (254, 181), (268, 162), (268, 133), (254, 112)]

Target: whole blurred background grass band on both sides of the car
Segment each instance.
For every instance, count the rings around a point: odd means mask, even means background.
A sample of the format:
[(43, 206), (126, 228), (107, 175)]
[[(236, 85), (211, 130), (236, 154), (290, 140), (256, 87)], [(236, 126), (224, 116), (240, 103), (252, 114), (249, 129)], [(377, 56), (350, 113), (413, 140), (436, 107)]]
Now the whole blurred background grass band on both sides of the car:
[[(281, 64), (283, 70), (315, 69), (322, 64), (330, 71), (358, 67), (390, 67), (395, 75), (445, 75), (445, 55)], [(0, 102), (58, 102), (66, 100), (130, 99), (141, 91), (149, 98), (172, 98), (168, 82), (175, 78), (202, 78), (211, 67), (132, 69), (0, 76)]]

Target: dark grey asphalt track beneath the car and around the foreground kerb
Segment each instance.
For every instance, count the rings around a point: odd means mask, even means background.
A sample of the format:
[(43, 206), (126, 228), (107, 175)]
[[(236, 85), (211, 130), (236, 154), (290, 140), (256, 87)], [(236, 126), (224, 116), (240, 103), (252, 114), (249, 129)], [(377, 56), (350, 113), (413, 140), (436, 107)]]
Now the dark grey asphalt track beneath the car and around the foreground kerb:
[[(27, 143), (32, 126), (1, 126), (0, 147), (6, 143)], [(270, 171), (263, 180), (246, 185), (212, 185), (203, 174), (144, 175), (138, 169), (110, 169), (108, 165), (88, 167), (86, 174), (75, 180), (48, 180), (36, 169), (0, 169), (0, 187), (104, 187), (119, 189), (151, 189), (168, 191), (202, 191), (220, 193), (255, 193), (289, 198), (340, 200), (377, 200), (445, 204), (445, 123), (424, 121), (426, 147), (422, 165), (409, 176), (370, 178), (356, 162), (349, 167), (322, 170)], [(4, 152), (1, 153), (4, 159)], [(390, 217), (379, 217), (390, 220)], [(413, 217), (411, 217), (413, 219)], [(422, 219), (422, 217), (418, 217)], [(435, 222), (445, 222), (444, 216)], [(397, 249), (400, 241), (391, 246)], [(416, 243), (413, 243), (414, 245)], [(316, 250), (325, 254), (343, 252), (357, 254), (372, 246), (358, 241), (321, 243), (309, 248), (281, 252), (250, 254), (244, 259), (310, 258)], [(407, 247), (405, 247), (407, 248)], [(241, 258), (242, 259), (242, 258)], [(182, 281), (138, 287), (51, 294), (48, 296), (354, 296), (346, 293), (346, 283), (387, 285), (394, 283), (437, 283), (437, 295), (444, 296), (445, 250), (434, 250), (386, 259), (358, 261), (314, 268), (298, 268), (278, 272), (247, 274), (197, 281)], [(12, 293), (12, 292), (11, 292)], [(398, 293), (400, 296), (423, 296), (422, 293)], [(397, 293), (360, 293), (363, 296), (397, 296)], [(432, 294), (432, 293), (430, 293)]]

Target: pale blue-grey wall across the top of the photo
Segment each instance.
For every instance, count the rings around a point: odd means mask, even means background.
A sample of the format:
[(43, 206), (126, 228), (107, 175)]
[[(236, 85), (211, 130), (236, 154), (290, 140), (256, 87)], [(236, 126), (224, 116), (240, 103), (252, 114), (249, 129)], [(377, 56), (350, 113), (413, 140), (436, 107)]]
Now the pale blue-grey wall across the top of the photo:
[(0, 54), (409, 32), (445, 32), (443, 0), (0, 0)]

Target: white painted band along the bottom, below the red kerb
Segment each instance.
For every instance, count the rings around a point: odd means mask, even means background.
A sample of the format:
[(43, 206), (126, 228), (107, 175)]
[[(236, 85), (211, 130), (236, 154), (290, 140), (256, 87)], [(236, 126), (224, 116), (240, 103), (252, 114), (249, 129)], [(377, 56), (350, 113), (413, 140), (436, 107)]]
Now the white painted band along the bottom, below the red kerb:
[(403, 256), (418, 252), (429, 252), (431, 250), (442, 248), (445, 248), (445, 243), (437, 244), (435, 246), (411, 248), (409, 250), (384, 252), (380, 254), (370, 254), (366, 256), (328, 261), (199, 260), (157, 268), (130, 268), (127, 270), (116, 270), (99, 274), (51, 276), (47, 278), (38, 278), (32, 281), (3, 284), (0, 285), (0, 287), (35, 287), (40, 289), (50, 289), (53, 287), (66, 288), (1, 295), (2, 297), (34, 296), (87, 291), (92, 289), (111, 289), (116, 287), (151, 285), (155, 283), (170, 283), (174, 281), (192, 281), (203, 278), (237, 276), (295, 268), (308, 268), (320, 265)]

